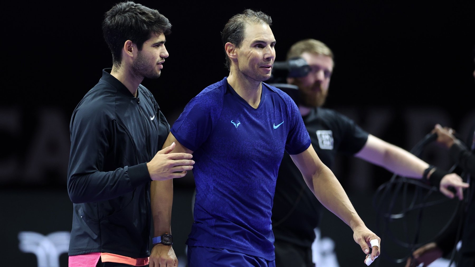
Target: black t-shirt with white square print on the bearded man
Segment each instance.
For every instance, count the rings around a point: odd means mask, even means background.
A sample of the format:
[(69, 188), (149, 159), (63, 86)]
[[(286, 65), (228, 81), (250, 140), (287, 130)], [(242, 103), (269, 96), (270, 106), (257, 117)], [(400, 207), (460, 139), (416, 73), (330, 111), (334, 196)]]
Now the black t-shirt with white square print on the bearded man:
[[(354, 155), (368, 140), (367, 132), (334, 110), (314, 108), (303, 119), (318, 157), (329, 168), (333, 166), (336, 153)], [(276, 240), (310, 247), (322, 207), (291, 157), (285, 153), (272, 209), (272, 230)]]

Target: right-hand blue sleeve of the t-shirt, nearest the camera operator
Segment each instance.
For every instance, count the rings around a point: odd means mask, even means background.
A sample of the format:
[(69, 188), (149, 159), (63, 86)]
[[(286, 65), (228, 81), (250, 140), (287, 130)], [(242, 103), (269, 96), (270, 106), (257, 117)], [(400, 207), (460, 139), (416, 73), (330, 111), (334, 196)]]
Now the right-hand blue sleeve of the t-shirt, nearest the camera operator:
[(311, 145), (310, 136), (305, 128), (304, 120), (300, 115), (297, 105), (289, 97), (287, 100), (289, 110), (290, 129), (285, 143), (285, 151), (289, 155), (297, 155), (304, 152)]

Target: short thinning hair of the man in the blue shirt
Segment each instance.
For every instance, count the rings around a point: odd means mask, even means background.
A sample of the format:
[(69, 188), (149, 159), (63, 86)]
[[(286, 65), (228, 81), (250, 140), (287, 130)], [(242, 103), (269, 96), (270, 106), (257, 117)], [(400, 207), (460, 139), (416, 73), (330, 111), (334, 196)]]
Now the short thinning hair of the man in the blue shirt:
[[(257, 23), (271, 26), (272, 18), (261, 11), (254, 11), (252, 9), (246, 9), (241, 14), (234, 15), (228, 20), (228, 23), (226, 23), (221, 32), (223, 46), (229, 42), (236, 47), (241, 47), (241, 43), (244, 40), (244, 30), (246, 29), (246, 25)], [(226, 67), (228, 67), (228, 70), (231, 69), (231, 60), (229, 60), (227, 54)]]

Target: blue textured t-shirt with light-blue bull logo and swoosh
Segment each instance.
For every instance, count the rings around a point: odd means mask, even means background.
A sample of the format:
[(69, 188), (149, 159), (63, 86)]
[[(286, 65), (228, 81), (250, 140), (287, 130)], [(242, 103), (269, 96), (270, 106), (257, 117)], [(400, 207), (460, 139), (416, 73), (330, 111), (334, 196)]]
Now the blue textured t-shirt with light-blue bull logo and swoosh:
[(304, 152), (310, 137), (294, 101), (262, 83), (251, 107), (214, 83), (185, 107), (171, 133), (194, 151), (194, 223), (187, 245), (230, 249), (274, 260), (271, 211), (284, 150)]

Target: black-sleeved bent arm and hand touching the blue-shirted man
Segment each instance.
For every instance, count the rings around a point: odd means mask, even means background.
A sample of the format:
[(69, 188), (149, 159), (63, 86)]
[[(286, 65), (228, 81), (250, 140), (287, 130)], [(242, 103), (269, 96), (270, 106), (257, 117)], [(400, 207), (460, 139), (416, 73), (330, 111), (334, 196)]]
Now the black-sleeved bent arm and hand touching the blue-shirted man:
[[(94, 111), (94, 110), (93, 110)], [(93, 112), (85, 110), (84, 112)], [(96, 202), (113, 199), (132, 192), (140, 184), (152, 180), (183, 177), (175, 171), (189, 170), (190, 154), (169, 154), (173, 147), (165, 147), (148, 163), (123, 166), (103, 171), (110, 155), (109, 139), (113, 135), (114, 120), (78, 112), (71, 125), (71, 152), (68, 167), (67, 190), (73, 203)]]

